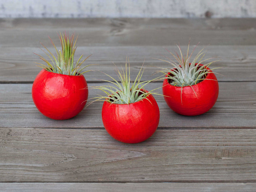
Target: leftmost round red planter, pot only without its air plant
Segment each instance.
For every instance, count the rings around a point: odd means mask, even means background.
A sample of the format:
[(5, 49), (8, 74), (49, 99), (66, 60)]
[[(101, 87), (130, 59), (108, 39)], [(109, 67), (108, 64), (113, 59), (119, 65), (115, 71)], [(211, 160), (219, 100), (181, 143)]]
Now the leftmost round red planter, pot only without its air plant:
[(34, 80), (32, 98), (46, 117), (69, 119), (84, 108), (88, 98), (87, 83), (83, 75), (63, 75), (43, 69)]

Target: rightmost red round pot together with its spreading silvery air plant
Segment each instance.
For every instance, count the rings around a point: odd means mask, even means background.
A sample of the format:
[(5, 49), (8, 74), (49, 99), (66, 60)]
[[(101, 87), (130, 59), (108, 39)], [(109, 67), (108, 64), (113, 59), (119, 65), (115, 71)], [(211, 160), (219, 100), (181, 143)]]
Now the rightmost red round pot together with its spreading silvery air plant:
[(168, 57), (166, 58), (169, 60), (159, 59), (173, 66), (173, 68), (162, 68), (160, 72), (165, 74), (162, 91), (167, 105), (179, 114), (196, 116), (213, 107), (218, 98), (219, 85), (216, 76), (209, 68), (213, 62), (202, 64), (211, 59), (203, 60), (203, 49), (190, 62), (197, 46), (189, 54), (189, 44), (184, 56), (180, 46), (178, 46), (180, 55), (177, 52), (174, 55), (168, 51), (176, 59), (176, 62)]

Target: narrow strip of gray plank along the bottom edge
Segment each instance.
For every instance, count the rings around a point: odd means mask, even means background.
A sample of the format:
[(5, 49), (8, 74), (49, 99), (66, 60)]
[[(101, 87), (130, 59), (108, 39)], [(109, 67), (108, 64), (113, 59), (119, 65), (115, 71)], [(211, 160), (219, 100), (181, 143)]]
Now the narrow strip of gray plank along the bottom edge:
[(3, 191), (254, 192), (255, 183), (0, 183)]

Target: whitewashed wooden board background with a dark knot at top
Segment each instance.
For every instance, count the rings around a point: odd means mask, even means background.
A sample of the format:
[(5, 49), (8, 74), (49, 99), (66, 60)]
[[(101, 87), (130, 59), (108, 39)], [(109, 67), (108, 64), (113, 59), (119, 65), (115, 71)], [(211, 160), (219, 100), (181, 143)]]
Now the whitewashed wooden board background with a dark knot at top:
[(0, 0), (0, 17), (256, 17), (256, 0)]

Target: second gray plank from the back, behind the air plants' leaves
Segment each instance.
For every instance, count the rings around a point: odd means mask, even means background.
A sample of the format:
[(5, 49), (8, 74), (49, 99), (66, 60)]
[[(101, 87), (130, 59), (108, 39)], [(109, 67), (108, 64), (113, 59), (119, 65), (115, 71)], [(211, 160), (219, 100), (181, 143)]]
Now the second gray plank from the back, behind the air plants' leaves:
[[(256, 39), (256, 38), (255, 38)], [(47, 40), (48, 41), (48, 40)], [(39, 42), (38, 42), (38, 46)], [(192, 48), (193, 46), (191, 46)], [(167, 49), (174, 52), (176, 46), (166, 46)], [(187, 46), (182, 46), (186, 50)], [(197, 51), (203, 46), (198, 46)], [(50, 50), (54, 51), (51, 46)], [(216, 69), (219, 81), (256, 81), (254, 71), (256, 46), (208, 46), (206, 48), (206, 58), (219, 57), (212, 60), (222, 59), (214, 63), (210, 68)], [(33, 52), (42, 54), (42, 50), (34, 47), (0, 47), (0, 82), (33, 82), (41, 68), (34, 62), (41, 62)], [(170, 54), (163, 46), (117, 46), (117, 47), (78, 47), (78, 55), (93, 54), (86, 62), (87, 64), (98, 64), (90, 66), (88, 69), (95, 71), (85, 74), (87, 81), (95, 82), (102, 76), (98, 71), (103, 71), (109, 75), (115, 76), (114, 62), (118, 68), (125, 65), (126, 55), (130, 60), (131, 76), (135, 78), (145, 59), (145, 72), (142, 80), (150, 80), (161, 74), (152, 75), (158, 71), (157, 67), (170, 67), (166, 62), (154, 58), (165, 59), (162, 55), (170, 57)], [(46, 56), (47, 58), (47, 56)], [(42, 61), (43, 62), (43, 61)], [(41, 62), (41, 63), (42, 63)], [(44, 63), (42, 63), (44, 64)], [(84, 65), (84, 66), (85, 66)]]

